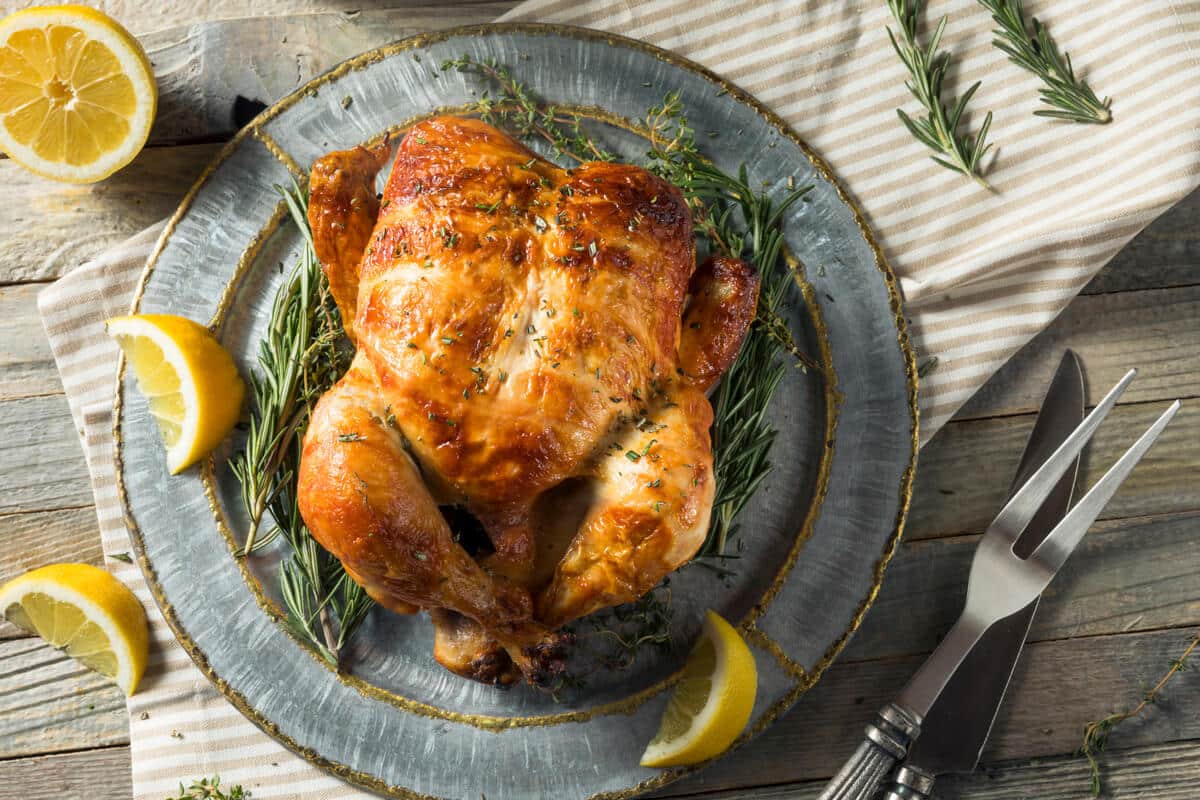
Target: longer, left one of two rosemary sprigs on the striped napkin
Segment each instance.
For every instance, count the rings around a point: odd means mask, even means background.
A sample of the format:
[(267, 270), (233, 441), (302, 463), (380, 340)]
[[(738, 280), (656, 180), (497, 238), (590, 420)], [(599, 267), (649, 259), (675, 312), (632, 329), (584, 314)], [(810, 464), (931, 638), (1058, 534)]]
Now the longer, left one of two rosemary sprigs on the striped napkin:
[(908, 70), (910, 80), (905, 82), (905, 86), (925, 108), (925, 115), (917, 119), (908, 116), (901, 108), (896, 109), (896, 114), (918, 142), (937, 154), (930, 156), (935, 162), (990, 188), (983, 179), (979, 161), (991, 148), (990, 144), (985, 144), (988, 128), (991, 127), (991, 112), (988, 112), (983, 125), (979, 126), (979, 133), (974, 137), (959, 132), (962, 113), (979, 89), (979, 82), (954, 102), (953, 109), (947, 110), (946, 103), (942, 102), (942, 80), (946, 78), (950, 55), (937, 50), (946, 31), (946, 17), (937, 23), (929, 44), (922, 48), (917, 43), (922, 5), (923, 0), (888, 0), (888, 8), (900, 25), (899, 36), (888, 28), (888, 38), (892, 40), (892, 47)]

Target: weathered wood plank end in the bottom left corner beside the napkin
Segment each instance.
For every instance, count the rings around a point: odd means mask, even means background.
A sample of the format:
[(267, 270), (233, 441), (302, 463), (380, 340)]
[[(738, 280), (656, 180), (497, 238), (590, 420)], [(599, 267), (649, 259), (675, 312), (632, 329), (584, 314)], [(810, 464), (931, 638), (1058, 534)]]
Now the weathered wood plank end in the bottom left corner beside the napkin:
[(4, 760), (0, 786), (7, 796), (22, 800), (130, 800), (130, 748)]

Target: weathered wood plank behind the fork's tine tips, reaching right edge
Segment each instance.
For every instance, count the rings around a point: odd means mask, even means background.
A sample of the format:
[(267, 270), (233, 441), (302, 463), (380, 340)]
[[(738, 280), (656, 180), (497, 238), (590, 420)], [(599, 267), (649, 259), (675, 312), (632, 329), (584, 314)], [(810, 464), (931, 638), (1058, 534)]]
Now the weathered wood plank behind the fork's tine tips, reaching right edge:
[[(1196, 267), (1200, 281), (1200, 266)], [(1124, 403), (1200, 396), (1200, 283), (1076, 297), (967, 401), (955, 420), (1036, 411), (1067, 348), (1099, 399), (1129, 371)]]

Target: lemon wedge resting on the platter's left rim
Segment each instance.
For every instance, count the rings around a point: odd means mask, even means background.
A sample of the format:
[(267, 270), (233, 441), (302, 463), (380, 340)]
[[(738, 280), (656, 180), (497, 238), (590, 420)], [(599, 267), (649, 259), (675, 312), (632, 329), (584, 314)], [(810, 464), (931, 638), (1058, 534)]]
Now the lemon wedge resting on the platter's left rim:
[(209, 329), (184, 317), (114, 317), (107, 326), (150, 402), (167, 446), (167, 468), (178, 475), (209, 455), (238, 422), (246, 387), (233, 357)]

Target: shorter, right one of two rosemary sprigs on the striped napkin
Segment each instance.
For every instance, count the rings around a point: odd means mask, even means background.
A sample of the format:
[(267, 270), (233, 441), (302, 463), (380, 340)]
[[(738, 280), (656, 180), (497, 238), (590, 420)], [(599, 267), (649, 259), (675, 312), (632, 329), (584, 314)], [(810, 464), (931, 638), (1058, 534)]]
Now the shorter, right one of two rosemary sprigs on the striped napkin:
[(1087, 125), (1105, 125), (1112, 119), (1112, 100), (1100, 100), (1086, 80), (1075, 76), (1070, 54), (1058, 52), (1058, 44), (1037, 17), (1030, 18), (1033, 32), (1027, 32), (1021, 0), (979, 0), (979, 5), (1000, 25), (992, 31), (996, 36), (992, 44), (1009, 61), (1042, 79), (1044, 85), (1038, 91), (1042, 102), (1051, 108), (1033, 112), (1037, 116)]

